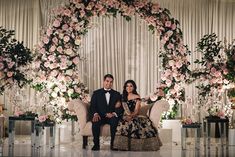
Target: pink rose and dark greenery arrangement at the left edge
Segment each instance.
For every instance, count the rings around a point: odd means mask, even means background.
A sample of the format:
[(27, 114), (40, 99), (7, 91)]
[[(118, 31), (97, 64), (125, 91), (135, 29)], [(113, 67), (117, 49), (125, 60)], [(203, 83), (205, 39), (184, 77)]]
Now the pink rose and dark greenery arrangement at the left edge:
[(13, 39), (14, 31), (0, 27), (0, 95), (14, 82), (23, 87), (30, 80), (26, 78), (26, 68), (32, 61), (30, 50)]

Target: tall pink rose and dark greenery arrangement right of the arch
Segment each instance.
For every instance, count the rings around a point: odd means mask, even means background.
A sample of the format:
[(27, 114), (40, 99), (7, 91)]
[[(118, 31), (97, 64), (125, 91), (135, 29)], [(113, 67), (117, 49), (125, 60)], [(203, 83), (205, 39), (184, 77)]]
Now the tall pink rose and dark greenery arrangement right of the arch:
[(197, 59), (195, 63), (201, 68), (192, 71), (192, 78), (200, 81), (197, 86), (199, 96), (206, 97), (209, 93), (218, 91), (223, 92), (223, 86), (228, 85), (229, 81), (225, 78), (228, 74), (226, 67), (226, 55), (224, 53), (221, 41), (216, 41), (216, 34), (209, 34), (197, 44), (197, 51), (202, 53), (201, 60)]

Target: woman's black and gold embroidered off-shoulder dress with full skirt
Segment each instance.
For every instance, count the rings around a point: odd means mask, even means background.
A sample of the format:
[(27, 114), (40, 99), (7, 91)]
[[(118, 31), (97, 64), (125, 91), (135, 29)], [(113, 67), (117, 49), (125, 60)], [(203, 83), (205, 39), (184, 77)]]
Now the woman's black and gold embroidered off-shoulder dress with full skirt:
[[(134, 111), (136, 100), (127, 101), (128, 108)], [(157, 129), (146, 116), (137, 116), (127, 122), (118, 124), (113, 148), (132, 151), (156, 151), (162, 146)]]

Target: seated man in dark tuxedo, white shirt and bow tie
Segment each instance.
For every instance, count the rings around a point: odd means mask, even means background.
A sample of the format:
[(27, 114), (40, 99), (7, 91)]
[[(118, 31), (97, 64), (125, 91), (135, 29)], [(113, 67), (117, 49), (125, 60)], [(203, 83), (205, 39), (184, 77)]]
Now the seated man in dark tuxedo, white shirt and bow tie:
[(114, 136), (118, 121), (123, 113), (122, 107), (115, 108), (117, 103), (121, 102), (121, 95), (119, 92), (112, 89), (113, 76), (106, 74), (104, 76), (103, 88), (93, 92), (91, 98), (91, 114), (92, 114), (92, 134), (94, 146), (92, 150), (100, 149), (100, 127), (104, 124), (110, 125), (111, 144), (112, 149)]

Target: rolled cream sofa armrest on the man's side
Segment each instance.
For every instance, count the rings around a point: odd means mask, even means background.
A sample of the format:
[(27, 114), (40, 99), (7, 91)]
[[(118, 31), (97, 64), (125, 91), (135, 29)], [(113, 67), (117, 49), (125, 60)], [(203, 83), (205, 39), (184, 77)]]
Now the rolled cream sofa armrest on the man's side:
[(88, 104), (82, 102), (80, 99), (74, 99), (68, 103), (69, 106), (73, 106), (73, 109), (78, 117), (78, 123), (80, 129), (83, 129), (88, 119)]

